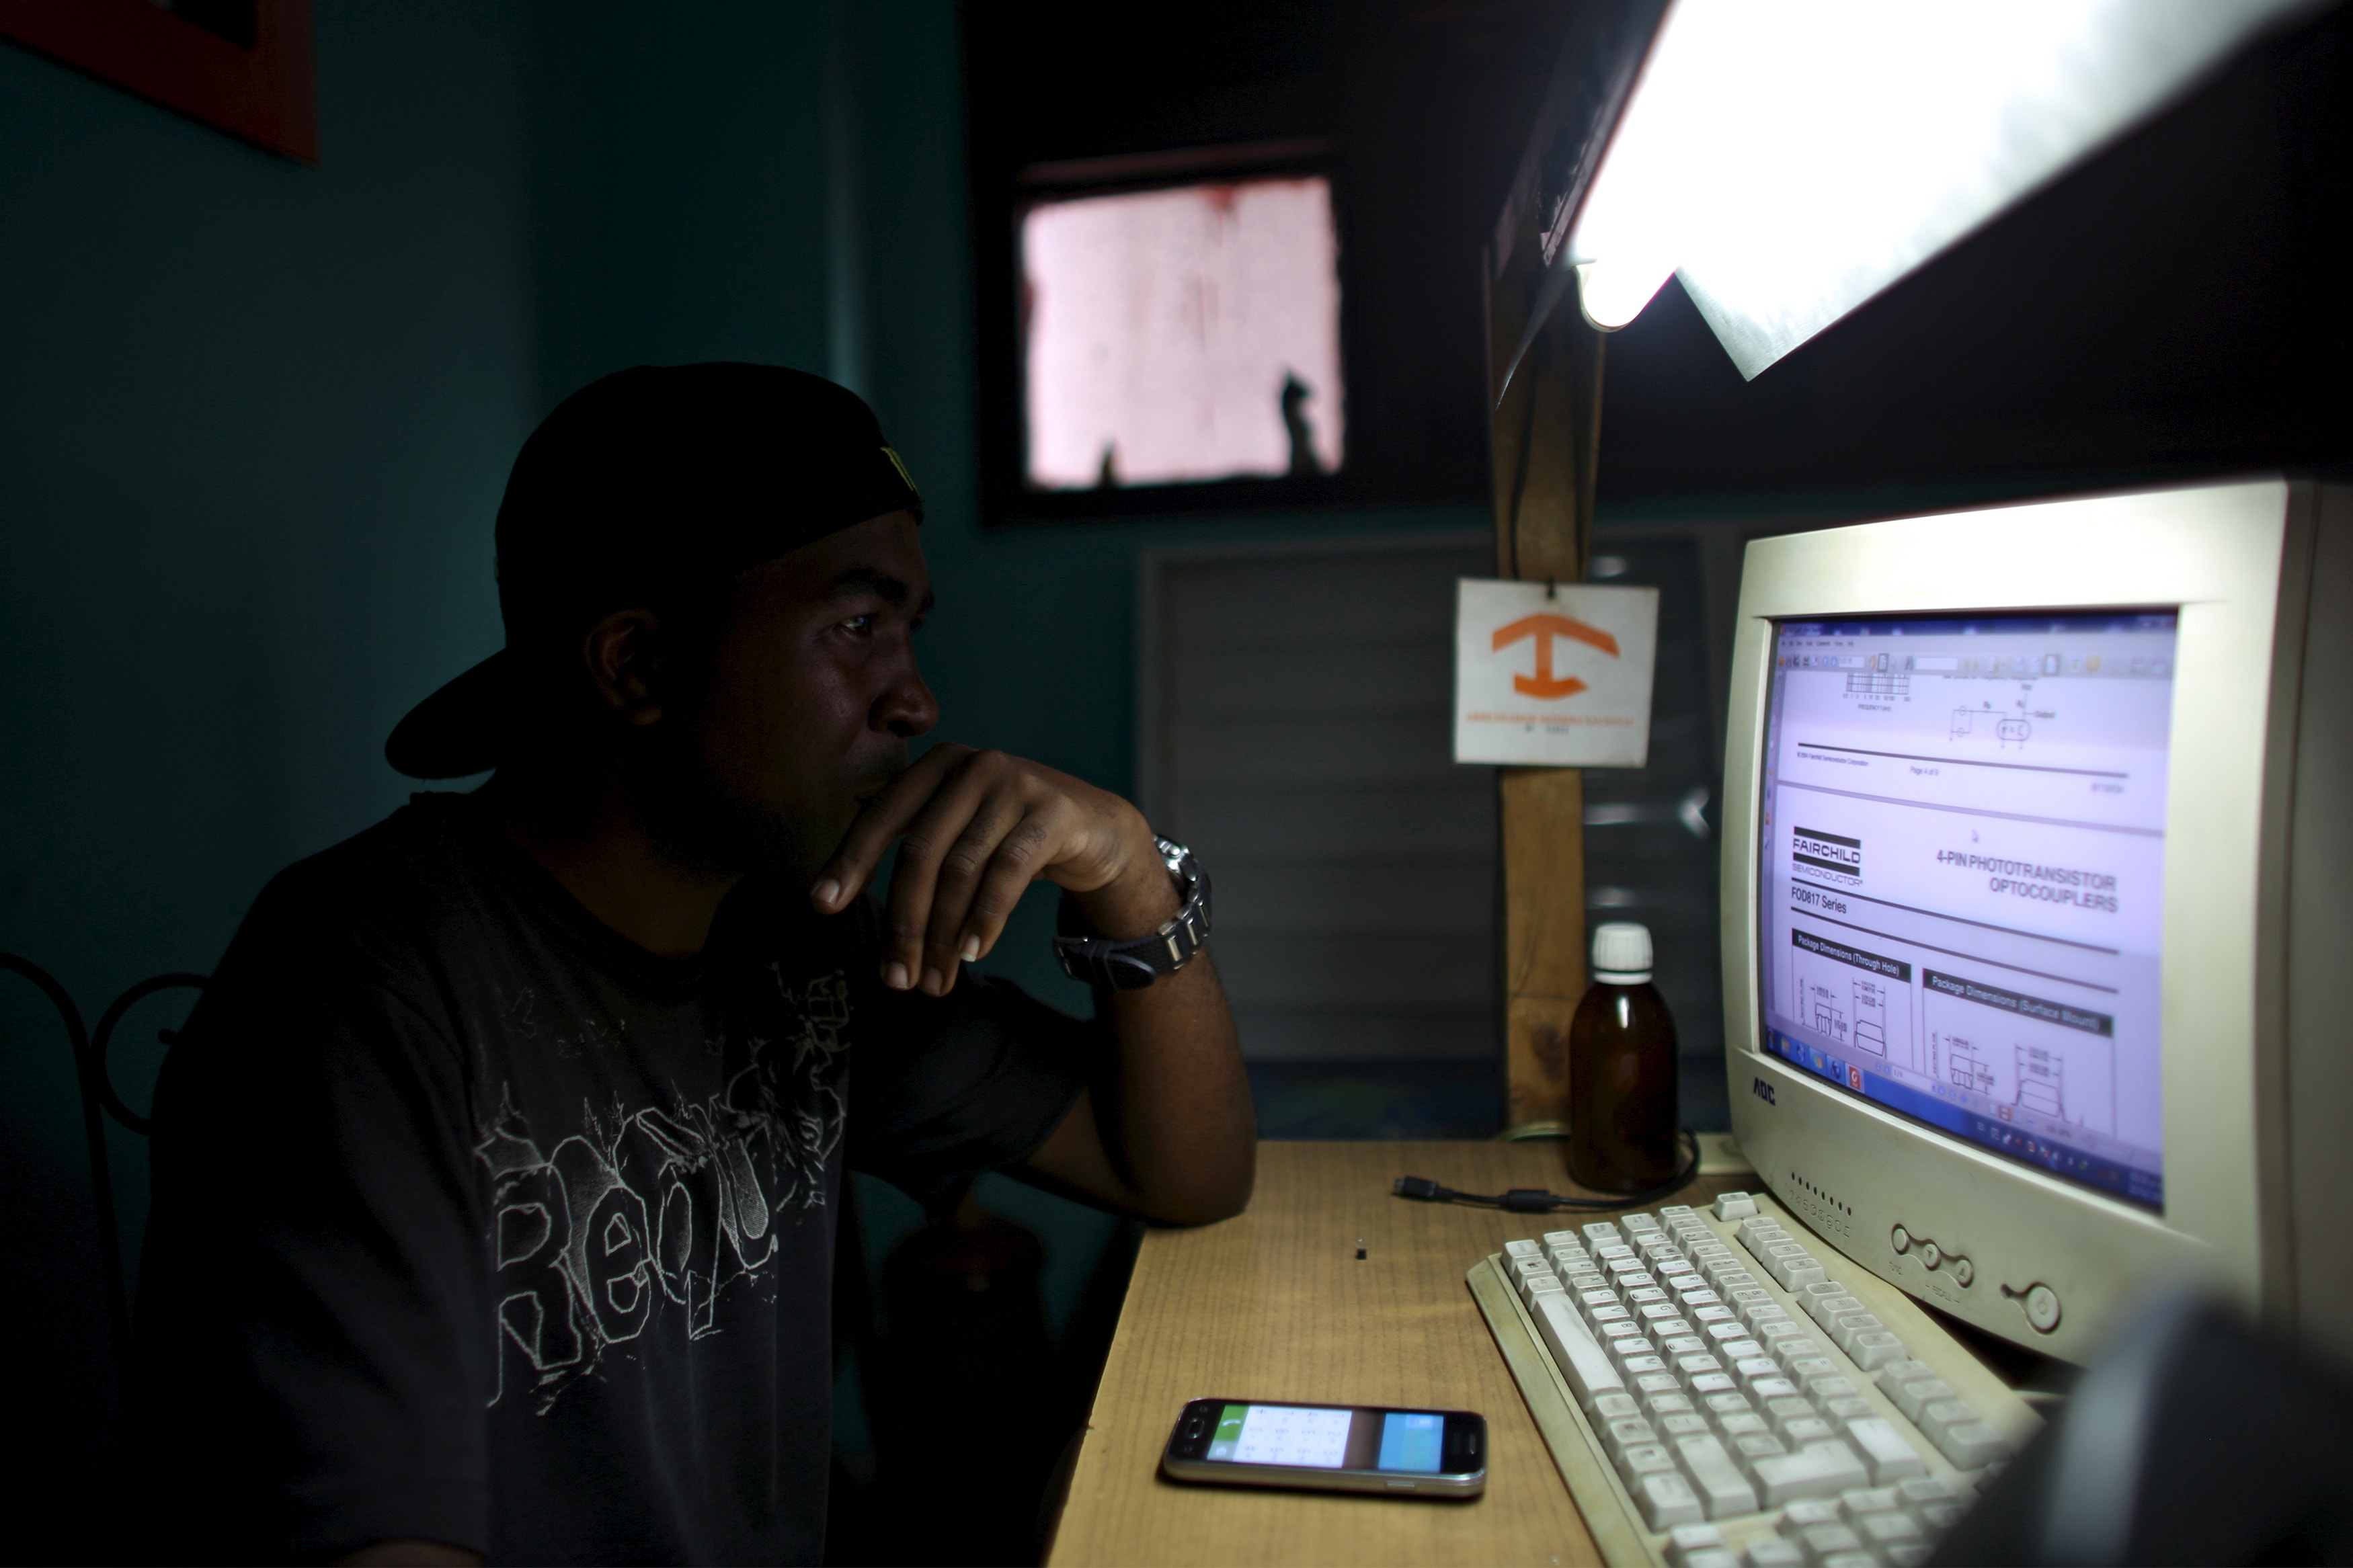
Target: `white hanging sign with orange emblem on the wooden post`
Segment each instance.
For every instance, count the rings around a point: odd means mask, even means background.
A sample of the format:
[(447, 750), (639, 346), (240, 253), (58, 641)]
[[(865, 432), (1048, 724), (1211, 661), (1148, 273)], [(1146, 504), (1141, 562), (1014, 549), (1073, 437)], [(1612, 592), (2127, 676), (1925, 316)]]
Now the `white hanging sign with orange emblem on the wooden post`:
[(1659, 590), (1459, 578), (1454, 762), (1649, 762)]

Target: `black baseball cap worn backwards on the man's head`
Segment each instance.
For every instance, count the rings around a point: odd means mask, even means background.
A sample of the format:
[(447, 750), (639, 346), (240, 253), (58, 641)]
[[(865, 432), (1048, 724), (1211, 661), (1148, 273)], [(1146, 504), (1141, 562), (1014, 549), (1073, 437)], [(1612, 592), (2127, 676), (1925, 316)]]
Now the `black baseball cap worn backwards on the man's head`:
[(409, 778), (499, 766), (522, 658), (922, 496), (866, 400), (779, 364), (638, 364), (555, 404), (499, 503), (506, 646), (393, 726)]

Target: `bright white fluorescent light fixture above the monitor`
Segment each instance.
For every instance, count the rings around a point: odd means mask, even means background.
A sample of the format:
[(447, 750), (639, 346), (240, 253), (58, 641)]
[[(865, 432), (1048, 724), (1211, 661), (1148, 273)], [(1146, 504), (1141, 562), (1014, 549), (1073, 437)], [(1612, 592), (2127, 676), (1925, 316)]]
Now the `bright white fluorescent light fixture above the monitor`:
[(1741, 376), (2311, 0), (1675, 0), (1569, 230), (1586, 320), (1671, 277)]

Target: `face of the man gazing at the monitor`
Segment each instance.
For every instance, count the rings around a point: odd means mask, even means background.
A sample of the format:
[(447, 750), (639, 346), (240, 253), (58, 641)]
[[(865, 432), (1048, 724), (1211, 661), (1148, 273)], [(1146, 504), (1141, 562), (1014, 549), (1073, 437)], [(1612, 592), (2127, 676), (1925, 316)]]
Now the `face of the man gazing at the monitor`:
[(932, 609), (911, 512), (828, 534), (739, 578), (706, 677), (666, 705), (689, 788), (675, 837), (729, 870), (814, 877), (939, 722), (915, 670)]

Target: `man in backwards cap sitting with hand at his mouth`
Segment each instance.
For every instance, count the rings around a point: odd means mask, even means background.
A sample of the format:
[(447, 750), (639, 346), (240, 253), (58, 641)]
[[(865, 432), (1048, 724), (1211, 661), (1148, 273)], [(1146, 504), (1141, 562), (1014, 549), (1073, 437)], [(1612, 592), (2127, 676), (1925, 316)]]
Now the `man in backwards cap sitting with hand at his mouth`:
[[(496, 773), (271, 882), (158, 1088), (160, 1554), (816, 1561), (845, 1166), (1247, 1201), (1191, 858), (1033, 762), (908, 764), (920, 505), (786, 369), (621, 371), (525, 444), (508, 644), (386, 748)], [(1040, 877), (1094, 1025), (965, 969)]]

